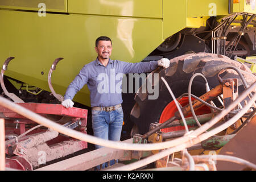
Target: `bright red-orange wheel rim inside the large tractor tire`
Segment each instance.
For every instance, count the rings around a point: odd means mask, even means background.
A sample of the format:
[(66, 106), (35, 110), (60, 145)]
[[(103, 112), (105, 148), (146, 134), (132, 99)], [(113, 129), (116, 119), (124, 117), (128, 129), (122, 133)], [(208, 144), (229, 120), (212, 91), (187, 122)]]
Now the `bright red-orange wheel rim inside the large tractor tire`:
[[(195, 100), (195, 98), (191, 98), (191, 100), (193, 101), (193, 100)], [(187, 105), (189, 103), (188, 97), (182, 97), (179, 100), (179, 103), (181, 106)], [(177, 111), (177, 107), (175, 105), (175, 102), (171, 101), (166, 107), (164, 107), (162, 114), (160, 116), (160, 119), (159, 119), (159, 123), (163, 123), (163, 122), (167, 121), (168, 119), (170, 119), (171, 117), (173, 117), (174, 114), (176, 113), (176, 111)], [(202, 106), (200, 109), (196, 110), (195, 113), (196, 113), (196, 115), (208, 114), (208, 113), (210, 113), (210, 108), (208, 106)], [(192, 114), (189, 114), (189, 115), (185, 116), (185, 118), (191, 117), (191, 116), (192, 116)], [(189, 127), (193, 127), (193, 126), (188, 125), (188, 128)], [(161, 131), (164, 133), (167, 133), (170, 131), (178, 131), (178, 130), (185, 130), (185, 127), (184, 126), (174, 126), (174, 127), (169, 127), (167, 129), (161, 129)]]

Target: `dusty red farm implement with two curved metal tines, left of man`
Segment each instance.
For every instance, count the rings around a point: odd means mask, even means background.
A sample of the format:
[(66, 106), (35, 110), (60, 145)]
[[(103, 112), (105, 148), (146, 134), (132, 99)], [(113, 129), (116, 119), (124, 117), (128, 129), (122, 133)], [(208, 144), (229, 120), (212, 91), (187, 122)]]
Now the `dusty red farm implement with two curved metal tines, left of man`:
[[(88, 110), (73, 107), (66, 109), (60, 104), (24, 103), (15, 94), (9, 93), (3, 82), (3, 73), (7, 70), (8, 63), (14, 59), (9, 57), (2, 67), (1, 86), (6, 96), (16, 105), (37, 113), (45, 118), (59, 123), (69, 129), (81, 131), (86, 134), (86, 122)], [(60, 94), (56, 94), (51, 84), (51, 73), (55, 69), (56, 59), (49, 71), (48, 84), (53, 95), (63, 100)], [(59, 134), (43, 125), (28, 119), (27, 115), (20, 115), (5, 105), (0, 106), (1, 117), (5, 119), (5, 153), (6, 167), (20, 170), (33, 170), (40, 164), (46, 164), (52, 160), (63, 158), (77, 151), (87, 148), (87, 142), (77, 140), (67, 135)]]

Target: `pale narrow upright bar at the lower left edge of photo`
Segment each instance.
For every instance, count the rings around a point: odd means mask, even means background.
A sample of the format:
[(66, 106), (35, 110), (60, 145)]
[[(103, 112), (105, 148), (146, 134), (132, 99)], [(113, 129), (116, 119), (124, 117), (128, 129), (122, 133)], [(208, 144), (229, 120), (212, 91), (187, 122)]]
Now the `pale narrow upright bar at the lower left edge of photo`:
[(5, 119), (0, 119), (0, 171), (5, 171)]

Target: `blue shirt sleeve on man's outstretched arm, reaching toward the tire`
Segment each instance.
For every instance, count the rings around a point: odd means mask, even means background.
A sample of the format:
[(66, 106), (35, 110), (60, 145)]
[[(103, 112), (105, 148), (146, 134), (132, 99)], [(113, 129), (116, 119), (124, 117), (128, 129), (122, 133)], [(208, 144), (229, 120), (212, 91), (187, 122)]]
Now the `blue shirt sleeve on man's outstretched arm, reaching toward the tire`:
[(158, 67), (158, 61), (141, 62), (141, 63), (127, 63), (122, 62), (123, 73), (147, 73)]

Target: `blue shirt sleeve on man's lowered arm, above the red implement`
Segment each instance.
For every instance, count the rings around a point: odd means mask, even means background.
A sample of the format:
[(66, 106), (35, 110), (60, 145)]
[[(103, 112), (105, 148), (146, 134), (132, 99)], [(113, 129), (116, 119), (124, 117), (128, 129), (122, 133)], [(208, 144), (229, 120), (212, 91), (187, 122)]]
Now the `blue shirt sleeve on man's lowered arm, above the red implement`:
[(86, 69), (86, 65), (84, 65), (79, 74), (75, 77), (71, 84), (69, 84), (64, 94), (64, 100), (72, 100), (75, 94), (79, 92), (79, 90), (88, 82), (89, 72), (88, 70), (86, 71)]

